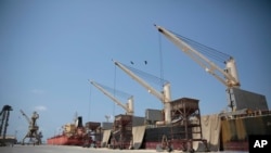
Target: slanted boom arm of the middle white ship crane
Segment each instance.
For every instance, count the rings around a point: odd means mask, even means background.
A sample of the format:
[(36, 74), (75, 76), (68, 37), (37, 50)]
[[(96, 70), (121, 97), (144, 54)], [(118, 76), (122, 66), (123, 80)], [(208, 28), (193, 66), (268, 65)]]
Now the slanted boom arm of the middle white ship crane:
[(153, 87), (151, 87), (147, 82), (145, 82), (143, 79), (138, 77), (134, 73), (132, 73), (129, 68), (127, 68), (125, 65), (117, 61), (113, 61), (115, 65), (117, 65), (120, 69), (122, 69), (125, 73), (127, 73), (132, 79), (137, 80), (141, 86), (143, 86), (147, 92), (152, 93), (156, 98), (158, 98), (163, 103), (165, 102), (164, 94), (156, 91)]

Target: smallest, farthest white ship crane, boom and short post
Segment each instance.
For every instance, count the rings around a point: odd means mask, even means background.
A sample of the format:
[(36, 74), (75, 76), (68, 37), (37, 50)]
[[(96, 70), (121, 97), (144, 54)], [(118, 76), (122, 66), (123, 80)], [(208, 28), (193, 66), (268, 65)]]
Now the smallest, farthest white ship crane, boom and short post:
[(100, 86), (98, 82), (93, 80), (89, 80), (91, 85), (96, 87), (100, 91), (102, 91), (105, 95), (107, 95), (111, 100), (113, 100), (117, 105), (121, 106), (127, 115), (133, 115), (133, 97), (131, 95), (128, 99), (127, 105), (122, 104), (118, 99), (116, 99), (114, 95), (112, 95), (108, 91), (106, 91), (102, 86)]

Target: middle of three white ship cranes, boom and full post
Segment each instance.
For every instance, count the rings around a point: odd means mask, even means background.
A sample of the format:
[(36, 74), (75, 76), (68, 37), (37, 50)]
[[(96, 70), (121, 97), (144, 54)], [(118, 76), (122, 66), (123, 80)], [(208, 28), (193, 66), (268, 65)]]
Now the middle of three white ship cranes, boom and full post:
[(125, 65), (117, 61), (113, 61), (115, 65), (117, 65), (120, 69), (122, 69), (126, 74), (128, 74), (132, 79), (138, 81), (141, 86), (143, 86), (147, 92), (152, 93), (154, 97), (159, 99), (162, 103), (164, 104), (165, 109), (165, 123), (170, 124), (171, 123), (171, 94), (170, 94), (170, 84), (167, 82), (164, 85), (163, 92), (156, 91), (152, 86), (150, 86), (147, 82), (145, 82), (142, 78), (137, 76), (134, 73), (132, 73), (129, 68), (127, 68)]

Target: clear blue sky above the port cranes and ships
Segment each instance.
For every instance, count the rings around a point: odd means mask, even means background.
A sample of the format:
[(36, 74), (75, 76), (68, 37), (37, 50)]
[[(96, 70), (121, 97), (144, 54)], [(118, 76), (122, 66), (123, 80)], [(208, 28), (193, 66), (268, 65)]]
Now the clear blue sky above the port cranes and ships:
[(20, 110), (38, 112), (43, 141), (76, 114), (87, 123), (125, 113), (88, 79), (133, 95), (136, 116), (163, 109), (112, 60), (168, 80), (171, 99), (199, 100), (202, 115), (225, 110), (225, 86), (154, 24), (232, 55), (241, 88), (266, 95), (270, 107), (270, 14), (268, 0), (1, 0), (0, 106), (13, 107), (8, 135), (21, 140), (27, 132)]

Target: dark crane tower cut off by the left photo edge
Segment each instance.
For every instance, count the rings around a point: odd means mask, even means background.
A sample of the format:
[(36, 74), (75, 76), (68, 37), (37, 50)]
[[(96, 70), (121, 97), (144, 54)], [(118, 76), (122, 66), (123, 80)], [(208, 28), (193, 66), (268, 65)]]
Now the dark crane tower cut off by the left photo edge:
[(5, 144), (5, 135), (7, 135), (7, 128), (9, 126), (9, 118), (10, 118), (10, 111), (12, 111), (12, 107), (10, 105), (4, 105), (2, 107), (2, 111), (0, 112), (0, 137), (2, 137), (3, 142), (0, 142), (0, 145)]

